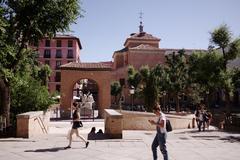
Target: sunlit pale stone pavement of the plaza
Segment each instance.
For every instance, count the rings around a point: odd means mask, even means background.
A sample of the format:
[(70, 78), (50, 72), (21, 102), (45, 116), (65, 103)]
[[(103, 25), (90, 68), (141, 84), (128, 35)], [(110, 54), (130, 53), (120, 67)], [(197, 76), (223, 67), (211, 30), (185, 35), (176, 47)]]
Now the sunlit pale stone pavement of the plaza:
[[(124, 131), (123, 139), (92, 140), (89, 147), (74, 139), (72, 148), (66, 134), (69, 121), (50, 123), (46, 136), (22, 139), (0, 139), (0, 160), (151, 160), (151, 142), (154, 131)], [(103, 120), (83, 122), (80, 133), (87, 137), (91, 127), (104, 129)], [(221, 132), (213, 127), (209, 131), (196, 129), (174, 130), (168, 133), (167, 149), (170, 160), (238, 160), (240, 134)], [(162, 159), (160, 151), (159, 159)]]

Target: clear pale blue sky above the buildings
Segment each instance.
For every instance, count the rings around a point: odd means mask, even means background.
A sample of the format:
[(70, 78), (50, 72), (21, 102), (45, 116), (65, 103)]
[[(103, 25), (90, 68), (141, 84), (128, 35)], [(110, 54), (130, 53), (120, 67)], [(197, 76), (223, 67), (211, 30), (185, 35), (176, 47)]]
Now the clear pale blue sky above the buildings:
[(112, 61), (131, 33), (144, 31), (161, 39), (160, 48), (207, 49), (210, 32), (227, 24), (240, 36), (240, 0), (82, 0), (83, 17), (70, 34), (82, 44), (82, 62)]

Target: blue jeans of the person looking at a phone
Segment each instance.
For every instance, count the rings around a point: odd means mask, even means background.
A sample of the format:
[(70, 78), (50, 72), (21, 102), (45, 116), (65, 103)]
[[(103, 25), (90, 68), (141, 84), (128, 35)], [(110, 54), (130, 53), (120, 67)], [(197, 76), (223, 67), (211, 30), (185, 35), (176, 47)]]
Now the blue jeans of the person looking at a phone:
[(160, 147), (160, 150), (163, 155), (164, 160), (168, 160), (168, 153), (167, 153), (167, 147), (166, 147), (166, 133), (159, 133), (157, 132), (153, 142), (152, 142), (152, 152), (153, 152), (153, 159), (157, 160), (157, 147)]

